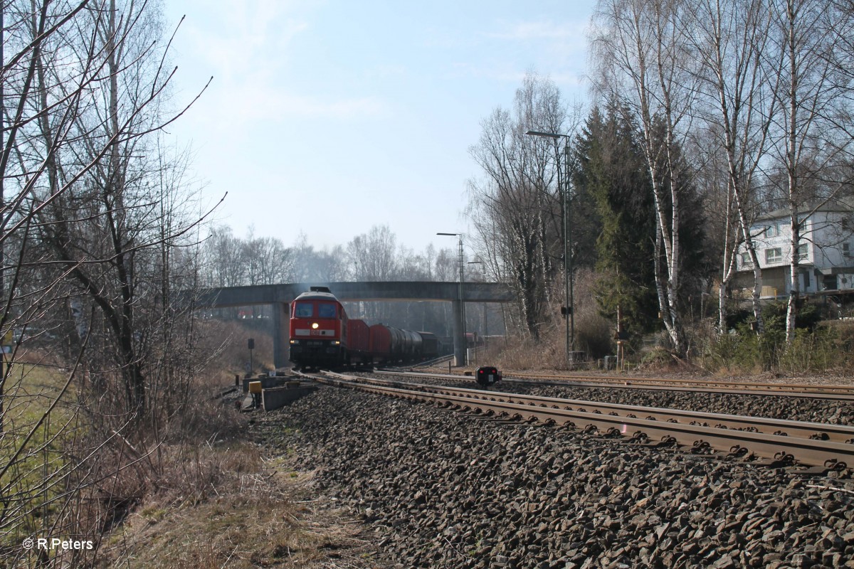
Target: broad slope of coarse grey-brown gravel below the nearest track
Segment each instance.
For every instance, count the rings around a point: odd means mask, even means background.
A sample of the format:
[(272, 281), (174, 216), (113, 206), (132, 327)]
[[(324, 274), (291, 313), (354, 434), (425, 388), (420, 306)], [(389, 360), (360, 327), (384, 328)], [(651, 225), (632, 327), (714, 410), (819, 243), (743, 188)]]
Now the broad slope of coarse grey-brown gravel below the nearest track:
[(388, 567), (854, 567), (851, 479), (330, 387), (254, 428), (316, 469)]

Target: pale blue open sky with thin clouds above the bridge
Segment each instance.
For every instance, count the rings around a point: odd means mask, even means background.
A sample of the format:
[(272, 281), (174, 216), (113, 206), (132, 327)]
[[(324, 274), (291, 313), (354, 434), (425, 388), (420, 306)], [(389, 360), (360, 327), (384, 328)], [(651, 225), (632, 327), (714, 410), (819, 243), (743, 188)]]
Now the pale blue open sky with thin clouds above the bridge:
[(587, 86), (594, 0), (163, 0), (176, 104), (208, 200), (236, 235), (346, 245), (387, 224), (398, 243), (465, 231), (468, 148), (532, 69), (567, 102)]

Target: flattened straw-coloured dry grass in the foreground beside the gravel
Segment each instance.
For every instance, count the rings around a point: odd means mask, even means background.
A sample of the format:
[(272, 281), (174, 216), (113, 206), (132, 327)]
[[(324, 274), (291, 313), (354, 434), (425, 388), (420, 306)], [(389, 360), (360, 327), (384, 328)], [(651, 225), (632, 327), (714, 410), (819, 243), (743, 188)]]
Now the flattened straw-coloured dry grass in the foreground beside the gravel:
[(249, 444), (207, 454), (219, 472), (208, 499), (176, 489), (149, 496), (106, 546), (108, 566), (373, 566), (361, 526), (313, 500), (311, 475), (288, 459), (264, 460)]

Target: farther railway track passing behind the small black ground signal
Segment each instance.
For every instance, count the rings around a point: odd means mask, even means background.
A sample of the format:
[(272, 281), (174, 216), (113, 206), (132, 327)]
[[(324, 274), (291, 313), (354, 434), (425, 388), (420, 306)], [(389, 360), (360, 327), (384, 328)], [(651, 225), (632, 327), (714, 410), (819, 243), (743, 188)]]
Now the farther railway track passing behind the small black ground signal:
[[(439, 380), (473, 380), (469, 375), (377, 370), (375, 374), (429, 377)], [(611, 389), (669, 392), (731, 393), (774, 397), (808, 397), (854, 403), (854, 386), (778, 383), (736, 383), (734, 381), (670, 380), (666, 378), (627, 378), (612, 375), (505, 374), (504, 381), (532, 386), (607, 387)]]

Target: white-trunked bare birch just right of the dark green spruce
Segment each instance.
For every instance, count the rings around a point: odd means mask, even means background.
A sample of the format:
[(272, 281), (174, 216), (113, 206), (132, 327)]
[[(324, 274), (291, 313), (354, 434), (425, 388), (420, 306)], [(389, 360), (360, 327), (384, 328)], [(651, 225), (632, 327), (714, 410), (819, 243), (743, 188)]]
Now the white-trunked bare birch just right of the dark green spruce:
[(690, 131), (697, 57), (681, 0), (600, 0), (594, 15), (597, 89), (623, 102), (640, 120), (646, 167), (655, 201), (658, 305), (670, 342), (687, 350), (678, 307), (681, 286), (681, 178), (677, 158)]

